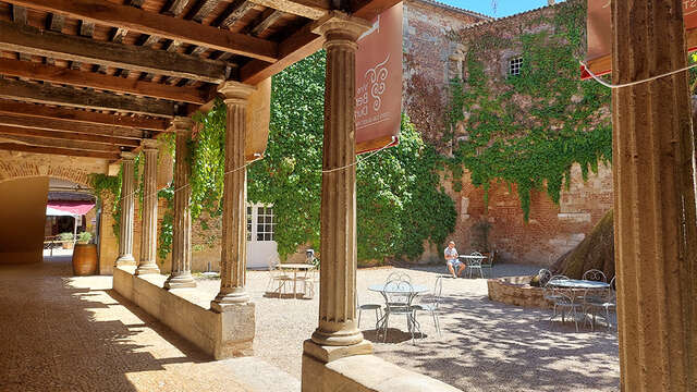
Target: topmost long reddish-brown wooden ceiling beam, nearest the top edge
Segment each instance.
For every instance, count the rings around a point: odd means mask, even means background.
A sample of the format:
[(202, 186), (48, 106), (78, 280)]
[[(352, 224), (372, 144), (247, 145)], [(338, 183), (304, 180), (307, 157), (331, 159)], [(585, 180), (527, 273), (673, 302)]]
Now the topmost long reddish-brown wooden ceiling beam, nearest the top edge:
[(205, 46), (267, 62), (277, 61), (277, 44), (192, 21), (147, 12), (106, 0), (7, 0), (29, 9), (58, 12), (108, 26)]

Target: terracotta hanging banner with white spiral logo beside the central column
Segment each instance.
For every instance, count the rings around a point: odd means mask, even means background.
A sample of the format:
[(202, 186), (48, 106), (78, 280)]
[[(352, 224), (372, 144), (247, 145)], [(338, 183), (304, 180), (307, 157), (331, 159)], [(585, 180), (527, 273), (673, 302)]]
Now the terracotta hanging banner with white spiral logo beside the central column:
[(372, 21), (356, 52), (356, 154), (399, 143), (402, 121), (402, 3)]

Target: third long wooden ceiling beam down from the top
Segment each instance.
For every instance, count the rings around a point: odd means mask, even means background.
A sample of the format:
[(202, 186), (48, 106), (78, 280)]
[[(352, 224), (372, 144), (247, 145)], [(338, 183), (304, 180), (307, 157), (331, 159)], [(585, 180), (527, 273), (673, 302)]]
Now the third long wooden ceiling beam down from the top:
[(207, 98), (193, 87), (168, 86), (10, 59), (0, 59), (0, 74), (198, 105), (206, 103)]

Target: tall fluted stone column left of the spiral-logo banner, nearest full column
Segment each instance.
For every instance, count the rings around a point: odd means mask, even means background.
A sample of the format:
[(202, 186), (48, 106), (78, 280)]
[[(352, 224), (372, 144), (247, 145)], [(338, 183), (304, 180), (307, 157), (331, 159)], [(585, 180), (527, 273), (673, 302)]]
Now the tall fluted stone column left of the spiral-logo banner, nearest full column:
[[(370, 24), (332, 12), (318, 23), (326, 37), (319, 326), (304, 355), (322, 363), (372, 352), (356, 324), (356, 39)], [(340, 169), (341, 168), (341, 169)], [(334, 346), (334, 347), (332, 347)], [(303, 367), (306, 367), (304, 359)], [(305, 373), (304, 370), (304, 379)], [(303, 388), (305, 388), (305, 382)]]

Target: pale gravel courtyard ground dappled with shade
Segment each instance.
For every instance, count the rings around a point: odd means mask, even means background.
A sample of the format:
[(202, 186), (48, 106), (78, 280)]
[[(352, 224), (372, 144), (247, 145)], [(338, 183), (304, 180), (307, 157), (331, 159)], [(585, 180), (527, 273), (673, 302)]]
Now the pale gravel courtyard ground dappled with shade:
[[(530, 274), (538, 267), (499, 265), (494, 275)], [(406, 272), (414, 284), (432, 286), (443, 267), (360, 269), (362, 304), (383, 303), (368, 291), (394, 271)], [(249, 271), (247, 289), (257, 306), (255, 355), (301, 377), (302, 343), (317, 327), (318, 296), (293, 299), (265, 296), (268, 272)], [(217, 279), (198, 279), (199, 290), (212, 298)], [(201, 293), (203, 294), (203, 293)], [(362, 329), (374, 341), (376, 355), (466, 391), (616, 391), (620, 382), (616, 330), (589, 328), (576, 333), (573, 323), (550, 323), (549, 311), (493, 303), (484, 279), (443, 281), (442, 336), (421, 314), (425, 333), (412, 344), (404, 320), (390, 320), (388, 342), (376, 339), (375, 316), (364, 313)], [(614, 323), (614, 320), (613, 320)]]

